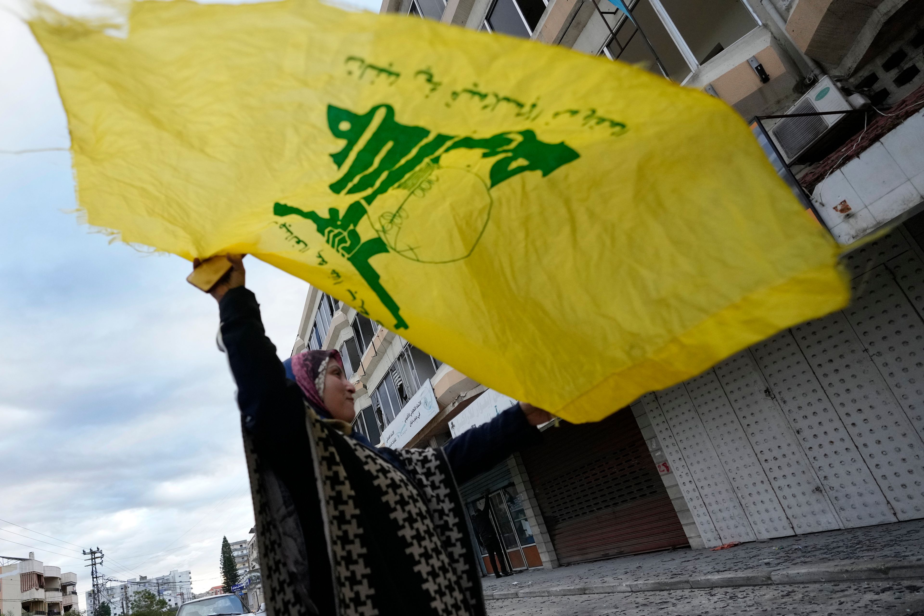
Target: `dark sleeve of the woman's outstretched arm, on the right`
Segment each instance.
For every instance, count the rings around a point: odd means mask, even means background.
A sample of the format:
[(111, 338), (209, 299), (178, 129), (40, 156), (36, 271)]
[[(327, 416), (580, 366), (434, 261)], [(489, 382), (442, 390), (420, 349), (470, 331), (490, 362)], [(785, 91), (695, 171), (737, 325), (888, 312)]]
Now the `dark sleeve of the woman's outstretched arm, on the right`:
[(511, 453), (539, 441), (539, 429), (529, 425), (519, 405), (513, 405), (488, 423), (459, 434), (444, 444), (443, 451), (461, 486)]

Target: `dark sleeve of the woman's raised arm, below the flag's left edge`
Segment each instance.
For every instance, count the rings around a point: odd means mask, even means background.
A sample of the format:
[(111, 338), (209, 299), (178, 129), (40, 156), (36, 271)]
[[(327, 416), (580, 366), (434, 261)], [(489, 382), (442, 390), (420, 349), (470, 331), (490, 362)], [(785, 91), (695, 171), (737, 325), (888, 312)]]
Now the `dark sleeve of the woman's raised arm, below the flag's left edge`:
[(276, 431), (283, 419), (280, 415), (298, 405), (299, 396), (293, 390), (298, 385), (286, 379), (276, 347), (263, 331), (257, 297), (249, 289), (230, 289), (218, 303), (218, 310), (244, 428), (255, 436), (268, 436), (268, 425)]

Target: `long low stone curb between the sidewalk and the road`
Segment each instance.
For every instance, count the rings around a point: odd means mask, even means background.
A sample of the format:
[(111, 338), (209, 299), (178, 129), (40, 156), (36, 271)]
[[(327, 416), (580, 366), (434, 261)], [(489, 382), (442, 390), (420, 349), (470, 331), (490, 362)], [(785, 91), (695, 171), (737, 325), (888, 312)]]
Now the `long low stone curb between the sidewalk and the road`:
[(691, 575), (658, 580), (614, 582), (589, 586), (554, 586), (524, 588), (485, 593), (486, 600), (502, 598), (560, 597), (564, 595), (601, 595), (609, 593), (652, 592), (687, 588), (721, 588), (728, 586), (767, 586), (812, 584), (842, 581), (879, 581), (886, 579), (924, 578), (924, 560), (819, 562), (786, 569), (749, 569), (718, 574)]

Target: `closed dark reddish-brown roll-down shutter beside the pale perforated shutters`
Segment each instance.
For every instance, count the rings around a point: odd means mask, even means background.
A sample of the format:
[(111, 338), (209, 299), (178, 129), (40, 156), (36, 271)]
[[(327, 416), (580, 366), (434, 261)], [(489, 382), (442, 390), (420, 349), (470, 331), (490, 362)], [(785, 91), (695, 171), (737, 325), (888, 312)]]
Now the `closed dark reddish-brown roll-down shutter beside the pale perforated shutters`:
[(629, 409), (544, 436), (520, 453), (559, 562), (688, 544)]

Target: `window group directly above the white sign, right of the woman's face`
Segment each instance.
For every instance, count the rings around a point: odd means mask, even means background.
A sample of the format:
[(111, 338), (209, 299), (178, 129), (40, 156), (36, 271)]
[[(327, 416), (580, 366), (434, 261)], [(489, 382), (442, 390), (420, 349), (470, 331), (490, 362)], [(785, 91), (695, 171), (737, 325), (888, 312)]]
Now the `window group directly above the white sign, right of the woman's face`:
[(382, 382), (371, 393), (372, 415), (379, 431), (383, 431), (397, 417), (411, 396), (442, 365), (441, 361), (416, 346), (407, 344), (404, 347), (395, 363), (388, 368)]

